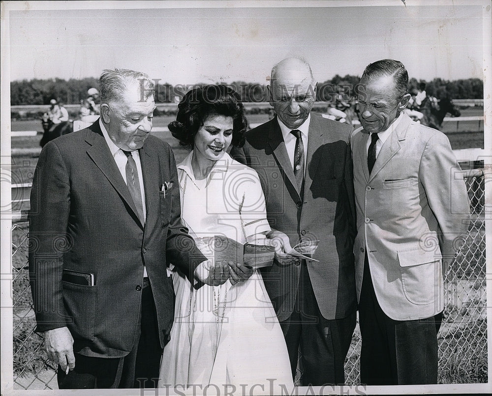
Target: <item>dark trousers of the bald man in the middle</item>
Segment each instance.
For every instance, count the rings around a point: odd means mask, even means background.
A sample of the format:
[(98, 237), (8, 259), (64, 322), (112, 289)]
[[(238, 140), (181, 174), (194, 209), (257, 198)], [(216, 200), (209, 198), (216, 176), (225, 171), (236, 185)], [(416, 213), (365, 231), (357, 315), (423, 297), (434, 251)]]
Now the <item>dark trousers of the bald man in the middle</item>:
[(356, 312), (328, 320), (318, 303), (303, 262), (294, 311), (280, 322), (289, 352), (292, 377), (295, 377), (299, 350), (302, 355), (303, 386), (342, 385), (345, 382), (344, 361), (356, 324)]

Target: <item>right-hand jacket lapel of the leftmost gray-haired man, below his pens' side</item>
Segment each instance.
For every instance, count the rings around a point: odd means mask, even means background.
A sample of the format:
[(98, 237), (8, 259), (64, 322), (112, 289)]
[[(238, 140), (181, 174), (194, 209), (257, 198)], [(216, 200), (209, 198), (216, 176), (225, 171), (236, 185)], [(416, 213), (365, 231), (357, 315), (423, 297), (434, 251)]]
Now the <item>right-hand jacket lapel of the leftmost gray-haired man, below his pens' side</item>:
[(145, 191), (145, 208), (146, 224), (151, 225), (149, 229), (152, 229), (152, 225), (157, 220), (158, 214), (158, 202), (159, 202), (159, 161), (156, 158), (155, 152), (147, 142), (139, 150), (140, 163), (142, 165), (142, 175), (144, 178), (144, 191)]

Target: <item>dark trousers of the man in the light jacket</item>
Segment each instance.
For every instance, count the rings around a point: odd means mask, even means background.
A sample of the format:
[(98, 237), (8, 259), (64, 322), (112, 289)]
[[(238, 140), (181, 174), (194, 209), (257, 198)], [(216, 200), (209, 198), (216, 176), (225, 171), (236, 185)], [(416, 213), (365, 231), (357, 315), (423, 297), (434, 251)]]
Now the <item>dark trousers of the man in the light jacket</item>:
[(377, 302), (366, 255), (359, 301), (361, 383), (436, 384), (437, 332), (441, 321), (442, 312), (417, 320), (388, 317)]

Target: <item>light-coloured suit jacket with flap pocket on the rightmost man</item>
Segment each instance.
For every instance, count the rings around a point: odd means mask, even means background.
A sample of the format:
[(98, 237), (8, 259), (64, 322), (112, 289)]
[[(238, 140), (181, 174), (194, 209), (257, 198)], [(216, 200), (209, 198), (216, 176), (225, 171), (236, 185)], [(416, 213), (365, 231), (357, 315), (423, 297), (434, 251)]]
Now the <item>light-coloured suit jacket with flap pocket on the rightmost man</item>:
[(357, 208), (357, 297), (367, 250), (374, 291), (395, 320), (443, 310), (442, 257), (452, 258), (468, 229), (469, 200), (448, 138), (406, 114), (384, 142), (369, 176), (369, 134), (351, 144)]

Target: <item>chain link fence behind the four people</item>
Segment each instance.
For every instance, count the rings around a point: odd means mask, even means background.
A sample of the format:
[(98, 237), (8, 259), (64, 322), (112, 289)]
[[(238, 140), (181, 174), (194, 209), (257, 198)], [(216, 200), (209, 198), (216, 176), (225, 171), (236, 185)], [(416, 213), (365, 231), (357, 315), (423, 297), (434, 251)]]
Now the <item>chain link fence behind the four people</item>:
[[(444, 274), (445, 310), (439, 343), (439, 383), (487, 383), (487, 311), (485, 268), (485, 178), (467, 172), (465, 182), (472, 221), (461, 253)], [(13, 358), (16, 389), (57, 389), (56, 373), (34, 332), (28, 269), (26, 218), (12, 224)], [(359, 325), (345, 361), (347, 385), (359, 384)], [(296, 381), (302, 376), (298, 369)]]

